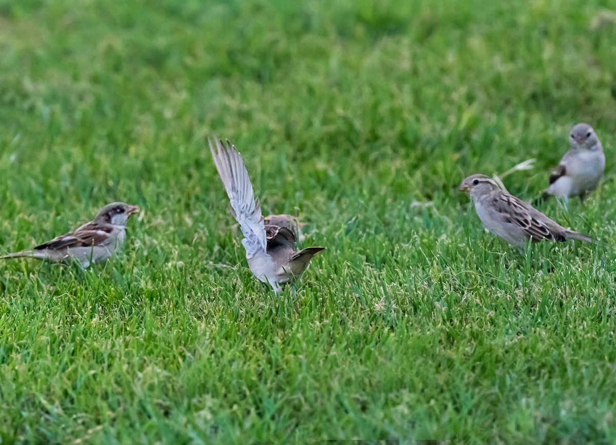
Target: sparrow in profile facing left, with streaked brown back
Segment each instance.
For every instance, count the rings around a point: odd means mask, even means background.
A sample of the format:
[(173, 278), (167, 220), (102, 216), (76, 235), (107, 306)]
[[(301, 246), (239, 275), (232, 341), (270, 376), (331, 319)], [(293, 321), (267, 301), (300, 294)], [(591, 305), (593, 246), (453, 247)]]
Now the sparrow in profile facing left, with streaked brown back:
[(592, 241), (585, 235), (565, 229), (529, 203), (501, 190), (496, 182), (485, 174), (469, 176), (462, 181), (458, 190), (468, 192), (471, 196), (477, 216), (488, 231), (520, 251), (529, 240)]

